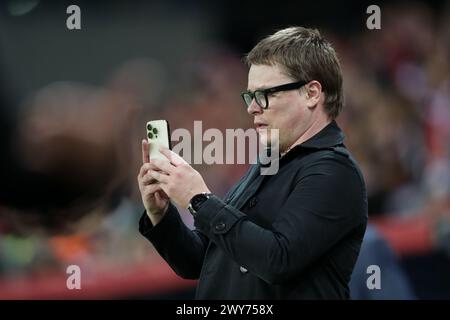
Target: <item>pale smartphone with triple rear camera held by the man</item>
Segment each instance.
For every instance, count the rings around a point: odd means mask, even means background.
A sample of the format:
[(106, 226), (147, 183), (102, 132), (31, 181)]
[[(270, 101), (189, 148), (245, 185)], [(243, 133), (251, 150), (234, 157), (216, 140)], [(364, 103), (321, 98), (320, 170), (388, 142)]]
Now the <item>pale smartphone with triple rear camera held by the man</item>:
[(162, 159), (167, 158), (159, 152), (159, 147), (163, 146), (168, 149), (172, 149), (170, 143), (170, 127), (167, 120), (153, 120), (147, 122), (147, 141), (150, 144), (149, 155), (150, 159)]

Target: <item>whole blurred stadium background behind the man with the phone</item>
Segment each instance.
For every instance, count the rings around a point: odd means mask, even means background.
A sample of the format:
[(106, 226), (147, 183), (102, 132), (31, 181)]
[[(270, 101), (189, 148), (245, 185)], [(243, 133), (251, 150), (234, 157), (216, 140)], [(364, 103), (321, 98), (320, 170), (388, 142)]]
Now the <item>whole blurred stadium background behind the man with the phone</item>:
[[(66, 27), (71, 4), (81, 30)], [(2, 0), (0, 299), (193, 298), (137, 231), (145, 123), (252, 127), (241, 59), (291, 25), (319, 28), (342, 64), (337, 121), (370, 215), (352, 297), (449, 299), (450, 2), (320, 0)], [(220, 196), (247, 170), (194, 167)], [(73, 264), (81, 290), (66, 287)]]

